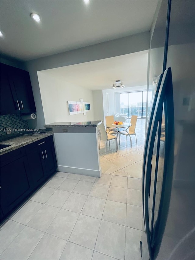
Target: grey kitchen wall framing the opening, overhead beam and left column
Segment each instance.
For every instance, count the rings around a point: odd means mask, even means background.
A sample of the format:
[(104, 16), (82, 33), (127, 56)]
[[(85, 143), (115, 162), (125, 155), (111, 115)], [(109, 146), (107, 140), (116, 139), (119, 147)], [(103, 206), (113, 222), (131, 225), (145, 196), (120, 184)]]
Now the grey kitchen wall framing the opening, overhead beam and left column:
[(29, 127), (43, 128), (45, 123), (37, 71), (140, 52), (148, 50), (149, 44), (150, 32), (148, 31), (26, 62), (37, 109), (37, 120), (29, 120)]

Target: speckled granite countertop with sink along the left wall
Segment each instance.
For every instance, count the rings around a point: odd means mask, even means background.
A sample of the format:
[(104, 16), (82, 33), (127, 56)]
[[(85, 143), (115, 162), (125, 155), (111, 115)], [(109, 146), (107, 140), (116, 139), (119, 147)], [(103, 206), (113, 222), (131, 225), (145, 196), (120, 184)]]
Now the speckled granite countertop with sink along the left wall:
[(3, 155), (3, 154), (8, 153), (10, 151), (16, 150), (20, 147), (27, 145), (27, 144), (34, 143), (38, 140), (41, 140), (45, 137), (52, 135), (52, 134), (53, 134), (53, 132), (49, 131), (49, 132), (44, 133), (44, 134), (21, 135), (19, 137), (0, 142), (0, 144), (10, 144), (11, 145), (9, 147), (1, 149), (0, 155)]

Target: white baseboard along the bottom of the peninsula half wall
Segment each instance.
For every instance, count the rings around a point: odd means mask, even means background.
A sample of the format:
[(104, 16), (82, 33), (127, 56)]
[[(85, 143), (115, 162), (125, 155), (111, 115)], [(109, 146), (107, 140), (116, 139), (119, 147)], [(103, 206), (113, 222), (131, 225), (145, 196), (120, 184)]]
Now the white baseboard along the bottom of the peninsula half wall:
[(83, 168), (75, 168), (69, 166), (58, 165), (58, 171), (63, 173), (74, 173), (74, 174), (82, 174), (92, 177), (101, 177), (101, 167), (100, 170), (91, 170), (91, 169), (83, 169)]

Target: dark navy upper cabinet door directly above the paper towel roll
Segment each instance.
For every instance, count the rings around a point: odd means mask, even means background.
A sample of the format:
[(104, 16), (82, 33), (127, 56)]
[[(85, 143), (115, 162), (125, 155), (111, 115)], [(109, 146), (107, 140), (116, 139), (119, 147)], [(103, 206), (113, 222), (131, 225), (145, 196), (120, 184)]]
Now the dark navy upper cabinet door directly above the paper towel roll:
[(12, 84), (16, 91), (20, 113), (36, 112), (29, 73), (12, 67)]

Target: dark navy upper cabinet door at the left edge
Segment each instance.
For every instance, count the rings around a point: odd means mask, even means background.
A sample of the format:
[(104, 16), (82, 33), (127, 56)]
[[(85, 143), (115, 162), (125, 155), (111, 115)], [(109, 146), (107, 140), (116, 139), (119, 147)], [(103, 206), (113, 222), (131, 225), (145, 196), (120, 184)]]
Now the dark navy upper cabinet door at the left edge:
[[(1, 115), (20, 113), (18, 104), (14, 100), (14, 93), (9, 82), (10, 66), (1, 63), (0, 87), (1, 87)], [(16, 94), (15, 94), (16, 95)]]

